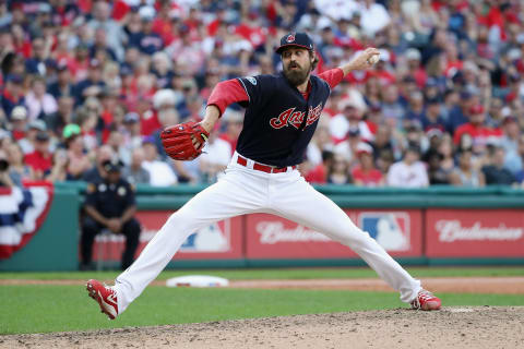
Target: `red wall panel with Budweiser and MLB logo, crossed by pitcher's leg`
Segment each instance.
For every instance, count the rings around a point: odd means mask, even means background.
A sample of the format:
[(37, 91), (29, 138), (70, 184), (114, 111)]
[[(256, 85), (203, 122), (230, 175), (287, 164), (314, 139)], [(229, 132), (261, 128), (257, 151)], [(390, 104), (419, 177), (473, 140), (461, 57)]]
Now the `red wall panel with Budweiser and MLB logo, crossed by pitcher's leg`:
[[(420, 256), (421, 213), (405, 210), (346, 210), (393, 256)], [(358, 257), (349, 248), (294, 221), (266, 215), (246, 217), (248, 258)]]

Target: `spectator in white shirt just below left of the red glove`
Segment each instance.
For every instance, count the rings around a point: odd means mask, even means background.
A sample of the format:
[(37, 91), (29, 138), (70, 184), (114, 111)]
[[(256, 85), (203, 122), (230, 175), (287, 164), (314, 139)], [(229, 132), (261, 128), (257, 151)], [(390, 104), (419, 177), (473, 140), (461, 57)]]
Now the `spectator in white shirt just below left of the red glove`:
[(150, 173), (150, 184), (153, 186), (168, 186), (178, 182), (172, 169), (158, 157), (156, 145), (152, 137), (144, 141), (144, 161), (142, 167)]

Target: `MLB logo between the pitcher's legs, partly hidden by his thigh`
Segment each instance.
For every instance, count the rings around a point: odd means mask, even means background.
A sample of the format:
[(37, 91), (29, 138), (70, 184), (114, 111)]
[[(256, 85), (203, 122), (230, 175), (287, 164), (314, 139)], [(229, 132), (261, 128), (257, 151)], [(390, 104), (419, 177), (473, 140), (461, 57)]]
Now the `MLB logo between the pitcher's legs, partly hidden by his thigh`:
[(180, 252), (227, 252), (230, 250), (229, 219), (196, 230), (181, 245)]

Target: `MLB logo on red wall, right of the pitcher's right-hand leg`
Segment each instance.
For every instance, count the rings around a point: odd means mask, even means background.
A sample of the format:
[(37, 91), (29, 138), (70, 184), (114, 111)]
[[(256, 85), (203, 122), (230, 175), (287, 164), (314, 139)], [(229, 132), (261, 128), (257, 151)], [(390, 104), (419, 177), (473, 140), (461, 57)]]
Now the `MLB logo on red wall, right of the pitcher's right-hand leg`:
[(409, 251), (409, 215), (402, 212), (367, 212), (359, 226), (390, 252)]

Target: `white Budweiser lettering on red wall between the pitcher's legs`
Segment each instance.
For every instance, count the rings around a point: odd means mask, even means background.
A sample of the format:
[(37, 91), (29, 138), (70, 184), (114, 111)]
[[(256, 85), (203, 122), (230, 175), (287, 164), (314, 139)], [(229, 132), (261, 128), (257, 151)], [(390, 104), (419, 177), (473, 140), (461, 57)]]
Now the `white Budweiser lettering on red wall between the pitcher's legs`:
[(257, 224), (255, 230), (260, 233), (260, 243), (263, 244), (275, 244), (278, 242), (331, 241), (320, 232), (309, 230), (302, 226), (286, 229), (282, 221), (260, 221)]

